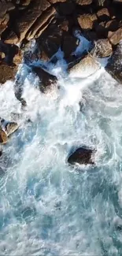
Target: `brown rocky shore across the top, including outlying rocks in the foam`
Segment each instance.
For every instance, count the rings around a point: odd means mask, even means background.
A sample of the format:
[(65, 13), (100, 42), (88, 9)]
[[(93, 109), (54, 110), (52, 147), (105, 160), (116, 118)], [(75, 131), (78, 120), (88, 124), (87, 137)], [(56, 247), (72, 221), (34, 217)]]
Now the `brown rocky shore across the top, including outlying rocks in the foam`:
[[(80, 53), (79, 50), (76, 54), (79, 46), (76, 31), (91, 42), (89, 52)], [(15, 80), (15, 96), (22, 106), (26, 106), (26, 102), (22, 98), (20, 80), (15, 79), (18, 65), (21, 61), (29, 65), (31, 72), (39, 77), (40, 91), (46, 93), (52, 85), (56, 86), (57, 77), (45, 66), (35, 67), (32, 62), (43, 61), (45, 64), (52, 61), (55, 64), (59, 49), (64, 53), (71, 76), (74, 72), (82, 75), (87, 65), (96, 71), (99, 69), (98, 58), (109, 57), (105, 69), (122, 83), (121, 0), (2, 0), (0, 37), (0, 86), (6, 80)], [(31, 52), (28, 49), (33, 39), (35, 50)], [(0, 143), (6, 143), (9, 134), (18, 128), (15, 122), (7, 124), (4, 128), (1, 125)], [(8, 133), (6, 127), (9, 127)], [(83, 163), (91, 162), (90, 150), (88, 157), (87, 150), (80, 153), (85, 156)]]

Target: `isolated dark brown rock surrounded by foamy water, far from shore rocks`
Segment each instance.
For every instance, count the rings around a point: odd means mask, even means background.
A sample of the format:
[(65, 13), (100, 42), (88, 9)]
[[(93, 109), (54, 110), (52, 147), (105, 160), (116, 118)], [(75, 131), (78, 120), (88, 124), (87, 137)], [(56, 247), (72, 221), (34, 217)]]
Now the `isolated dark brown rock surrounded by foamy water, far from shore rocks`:
[(93, 158), (94, 150), (79, 147), (74, 153), (72, 153), (68, 158), (68, 163), (71, 165), (94, 165)]

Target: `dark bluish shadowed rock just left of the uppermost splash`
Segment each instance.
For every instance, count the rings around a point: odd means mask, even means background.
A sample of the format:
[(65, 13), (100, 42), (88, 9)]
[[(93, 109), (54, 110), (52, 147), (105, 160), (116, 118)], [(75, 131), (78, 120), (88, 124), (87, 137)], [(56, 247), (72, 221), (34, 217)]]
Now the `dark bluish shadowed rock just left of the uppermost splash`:
[(61, 45), (61, 50), (63, 50), (65, 58), (68, 58), (76, 50), (77, 46), (78, 39), (72, 35), (66, 34)]

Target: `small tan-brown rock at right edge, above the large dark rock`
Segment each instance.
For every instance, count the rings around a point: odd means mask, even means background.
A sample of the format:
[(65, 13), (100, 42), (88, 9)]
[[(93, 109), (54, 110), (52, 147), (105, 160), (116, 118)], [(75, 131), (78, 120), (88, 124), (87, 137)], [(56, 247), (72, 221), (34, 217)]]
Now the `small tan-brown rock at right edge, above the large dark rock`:
[(122, 40), (122, 28), (119, 28), (116, 30), (116, 32), (109, 32), (108, 39), (109, 42), (113, 44), (113, 46), (116, 46), (116, 44), (120, 43), (120, 40)]

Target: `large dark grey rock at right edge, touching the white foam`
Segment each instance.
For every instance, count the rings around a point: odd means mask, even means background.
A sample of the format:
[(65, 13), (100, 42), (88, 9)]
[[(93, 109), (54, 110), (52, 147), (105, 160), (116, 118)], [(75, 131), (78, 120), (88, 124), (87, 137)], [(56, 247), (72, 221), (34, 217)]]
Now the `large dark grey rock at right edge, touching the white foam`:
[(115, 80), (122, 83), (122, 43), (120, 43), (113, 52), (105, 69)]

